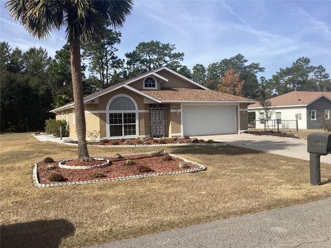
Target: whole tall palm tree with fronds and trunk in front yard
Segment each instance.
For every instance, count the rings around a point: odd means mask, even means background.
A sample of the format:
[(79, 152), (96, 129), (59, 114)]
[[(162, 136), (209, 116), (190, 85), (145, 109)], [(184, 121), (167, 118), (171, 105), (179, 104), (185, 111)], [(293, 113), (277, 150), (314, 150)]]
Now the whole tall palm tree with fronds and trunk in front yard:
[(39, 39), (50, 37), (52, 30), (66, 29), (70, 46), (70, 65), (78, 141), (78, 158), (91, 160), (86, 145), (86, 121), (81, 79), (81, 42), (101, 39), (104, 27), (123, 26), (132, 10), (132, 0), (9, 0), (6, 8), (30, 34)]

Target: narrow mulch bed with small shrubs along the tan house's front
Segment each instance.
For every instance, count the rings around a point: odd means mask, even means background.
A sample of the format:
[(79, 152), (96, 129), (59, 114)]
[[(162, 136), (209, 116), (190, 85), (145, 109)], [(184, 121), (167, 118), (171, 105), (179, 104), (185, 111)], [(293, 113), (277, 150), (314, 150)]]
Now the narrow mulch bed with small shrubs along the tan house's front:
[[(77, 141), (68, 141), (77, 144)], [(163, 144), (183, 144), (183, 143), (219, 143), (216, 141), (204, 141), (197, 138), (121, 138), (119, 140), (103, 139), (101, 141), (88, 141), (88, 145), (163, 145)]]

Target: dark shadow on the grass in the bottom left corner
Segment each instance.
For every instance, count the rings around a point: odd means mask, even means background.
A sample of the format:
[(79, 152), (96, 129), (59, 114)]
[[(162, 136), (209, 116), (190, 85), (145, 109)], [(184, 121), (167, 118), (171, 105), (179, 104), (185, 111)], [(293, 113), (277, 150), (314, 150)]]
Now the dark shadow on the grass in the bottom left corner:
[(1, 225), (1, 248), (59, 247), (63, 238), (74, 234), (68, 220), (37, 220), (28, 223)]

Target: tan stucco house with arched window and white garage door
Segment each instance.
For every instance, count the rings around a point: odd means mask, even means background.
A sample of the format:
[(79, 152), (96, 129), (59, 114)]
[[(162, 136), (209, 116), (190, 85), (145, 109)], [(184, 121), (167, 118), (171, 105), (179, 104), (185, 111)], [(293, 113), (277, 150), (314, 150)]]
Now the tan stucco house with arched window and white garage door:
[[(235, 134), (247, 130), (247, 106), (255, 102), (163, 67), (85, 96), (86, 130), (114, 139)], [(51, 112), (75, 138), (74, 103)]]

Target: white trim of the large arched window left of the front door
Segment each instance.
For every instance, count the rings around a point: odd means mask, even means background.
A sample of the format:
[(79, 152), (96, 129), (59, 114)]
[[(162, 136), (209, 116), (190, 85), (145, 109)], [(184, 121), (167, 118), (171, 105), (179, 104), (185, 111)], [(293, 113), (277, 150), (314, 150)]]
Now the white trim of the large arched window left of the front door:
[[(126, 97), (132, 101), (134, 104), (135, 110), (109, 110), (110, 103), (114, 101), (114, 99), (117, 99), (118, 97)], [(123, 136), (110, 136), (110, 120), (109, 120), (109, 114), (111, 113), (135, 113), (136, 114), (136, 134), (135, 135), (124, 135)], [(123, 114), (122, 114), (123, 116)], [(122, 121), (123, 122), (123, 121)], [(122, 123), (123, 125), (123, 123)], [(112, 138), (112, 139), (119, 139), (119, 138), (136, 138), (139, 136), (139, 111), (138, 111), (138, 105), (136, 101), (132, 98), (132, 96), (129, 96), (128, 94), (117, 94), (112, 96), (112, 98), (109, 99), (107, 105), (106, 105), (106, 137), (107, 138)]]

